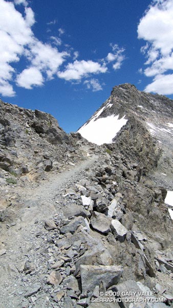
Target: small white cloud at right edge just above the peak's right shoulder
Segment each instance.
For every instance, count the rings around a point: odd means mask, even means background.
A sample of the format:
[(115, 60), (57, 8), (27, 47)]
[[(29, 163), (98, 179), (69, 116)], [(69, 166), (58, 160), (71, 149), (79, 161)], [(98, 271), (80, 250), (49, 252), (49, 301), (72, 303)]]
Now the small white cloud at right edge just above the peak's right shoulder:
[(173, 74), (157, 75), (154, 81), (147, 85), (146, 92), (155, 92), (158, 94), (172, 94), (173, 89)]

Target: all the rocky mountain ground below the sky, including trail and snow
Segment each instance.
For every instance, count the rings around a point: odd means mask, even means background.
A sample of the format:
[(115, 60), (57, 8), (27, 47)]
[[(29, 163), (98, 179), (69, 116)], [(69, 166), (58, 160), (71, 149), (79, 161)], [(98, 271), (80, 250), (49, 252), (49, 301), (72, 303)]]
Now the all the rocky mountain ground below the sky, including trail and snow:
[(115, 86), (67, 134), (0, 101), (2, 308), (172, 306), (172, 104)]

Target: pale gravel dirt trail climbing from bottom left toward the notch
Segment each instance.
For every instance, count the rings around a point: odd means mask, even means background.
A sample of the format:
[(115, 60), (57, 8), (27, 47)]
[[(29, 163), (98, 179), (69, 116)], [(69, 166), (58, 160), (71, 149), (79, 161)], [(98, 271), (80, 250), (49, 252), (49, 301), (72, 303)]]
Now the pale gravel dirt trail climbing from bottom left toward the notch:
[[(70, 166), (70, 170), (48, 175), (48, 179), (40, 182), (37, 187), (33, 188), (30, 184), (27, 189), (23, 187), (20, 189), (17, 186), (14, 188), (14, 191), (20, 196), (20, 204), (16, 207), (17, 221), (10, 228), (5, 226), (1, 235), (0, 249), (6, 249), (6, 254), (0, 257), (0, 302), (2, 308), (18, 307), (20, 295), (17, 296), (17, 294), (23, 293), (25, 286), (21, 284), (16, 266), (19, 264), (20, 267), (26, 262), (33, 246), (39, 247), (41, 245), (41, 239), (35, 237), (36, 233), (40, 231), (39, 222), (51, 218), (55, 213), (61, 215), (60, 205), (63, 196), (58, 204), (56, 203), (57, 195), (62, 194), (62, 189), (67, 185), (73, 184), (81, 177), (84, 178), (85, 168), (91, 168), (97, 160), (98, 156), (94, 155), (76, 166)], [(10, 302), (13, 302), (14, 305), (11, 305)]]

